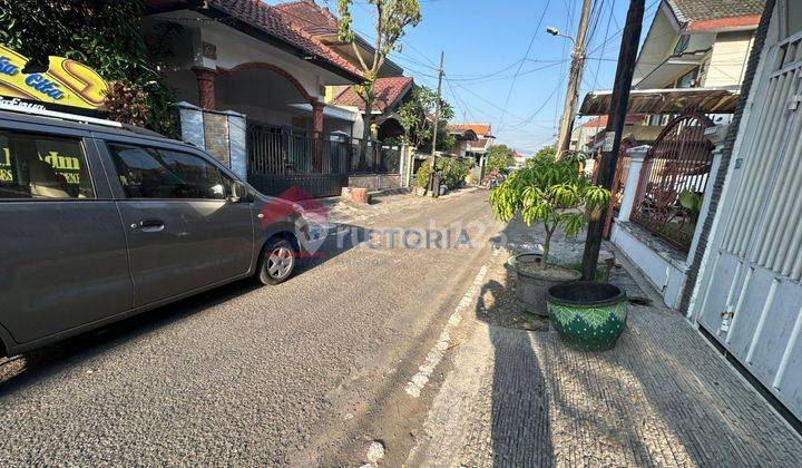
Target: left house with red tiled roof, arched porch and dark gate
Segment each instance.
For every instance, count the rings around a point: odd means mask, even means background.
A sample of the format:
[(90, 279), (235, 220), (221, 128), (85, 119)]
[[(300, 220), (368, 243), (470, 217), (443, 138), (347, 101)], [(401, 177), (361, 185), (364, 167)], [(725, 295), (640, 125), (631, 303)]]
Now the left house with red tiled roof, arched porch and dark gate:
[[(148, 0), (147, 8), (146, 42), (165, 57), (159, 71), (179, 100), (183, 138), (256, 188), (277, 194), (309, 182), (301, 188), (312, 195), (339, 195), (350, 173), (395, 170), (398, 156), (358, 139), (359, 109), (326, 98), (326, 89), (363, 80), (327, 10), (311, 0)], [(388, 94), (384, 104), (394, 100)]]

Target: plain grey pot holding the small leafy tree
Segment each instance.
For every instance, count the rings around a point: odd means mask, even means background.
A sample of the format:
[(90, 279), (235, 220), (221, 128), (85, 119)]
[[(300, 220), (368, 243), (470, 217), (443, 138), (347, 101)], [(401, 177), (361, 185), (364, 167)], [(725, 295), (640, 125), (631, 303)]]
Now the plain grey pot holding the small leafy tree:
[[(540, 316), (548, 316), (546, 308), (546, 294), (548, 289), (564, 283), (579, 280), (581, 274), (576, 270), (549, 265), (548, 270), (537, 271), (531, 267), (542, 262), (539, 253), (524, 253), (510, 259), (510, 264), (516, 271), (516, 298), (524, 310)], [(559, 275), (555, 275), (559, 273)]]

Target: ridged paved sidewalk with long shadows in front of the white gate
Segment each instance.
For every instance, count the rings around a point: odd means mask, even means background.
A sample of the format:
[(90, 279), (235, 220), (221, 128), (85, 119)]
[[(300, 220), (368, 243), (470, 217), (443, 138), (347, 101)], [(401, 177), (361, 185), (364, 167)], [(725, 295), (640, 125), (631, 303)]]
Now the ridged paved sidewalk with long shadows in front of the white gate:
[[(509, 250), (531, 248), (531, 231), (506, 234)], [(555, 250), (570, 262), (580, 240)], [(630, 305), (614, 350), (570, 350), (521, 318), (502, 256), (488, 262), (408, 465), (802, 466), (800, 437), (677, 312)], [(626, 271), (612, 281), (648, 295)]]

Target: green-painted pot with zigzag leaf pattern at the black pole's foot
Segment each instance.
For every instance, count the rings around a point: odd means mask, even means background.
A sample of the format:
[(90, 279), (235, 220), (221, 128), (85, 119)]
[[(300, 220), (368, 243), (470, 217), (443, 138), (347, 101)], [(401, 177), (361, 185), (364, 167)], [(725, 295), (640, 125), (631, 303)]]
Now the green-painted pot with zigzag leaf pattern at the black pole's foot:
[(618, 286), (594, 281), (548, 290), (551, 324), (565, 343), (587, 351), (615, 348), (627, 319), (627, 296)]

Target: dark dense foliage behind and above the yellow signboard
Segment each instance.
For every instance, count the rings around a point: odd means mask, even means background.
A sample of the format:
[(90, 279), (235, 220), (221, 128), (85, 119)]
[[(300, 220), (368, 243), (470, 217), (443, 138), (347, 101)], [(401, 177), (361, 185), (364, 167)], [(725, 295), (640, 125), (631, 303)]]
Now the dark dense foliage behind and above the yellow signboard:
[[(95, 69), (109, 81), (106, 107), (111, 119), (177, 135), (175, 101), (156, 71), (169, 55), (148, 48), (143, 37), (144, 0), (0, 0), (0, 43), (47, 68), (48, 56), (67, 57)], [(157, 30), (155, 42), (168, 43), (175, 27)]]

